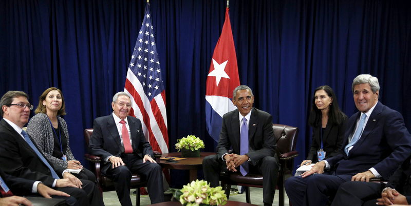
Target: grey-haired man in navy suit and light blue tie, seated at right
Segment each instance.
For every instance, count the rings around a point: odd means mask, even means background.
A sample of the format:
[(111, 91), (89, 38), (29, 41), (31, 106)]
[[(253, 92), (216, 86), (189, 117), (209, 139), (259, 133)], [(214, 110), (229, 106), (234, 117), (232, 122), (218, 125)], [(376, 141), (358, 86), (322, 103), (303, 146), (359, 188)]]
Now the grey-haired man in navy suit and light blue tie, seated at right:
[[(352, 93), (359, 112), (352, 115), (342, 152), (316, 163), (302, 176), (286, 180), (293, 205), (325, 205), (346, 181), (388, 179), (411, 154), (411, 136), (400, 113), (378, 102), (378, 79), (368, 74), (354, 78)], [(330, 168), (329, 174), (322, 174)]]

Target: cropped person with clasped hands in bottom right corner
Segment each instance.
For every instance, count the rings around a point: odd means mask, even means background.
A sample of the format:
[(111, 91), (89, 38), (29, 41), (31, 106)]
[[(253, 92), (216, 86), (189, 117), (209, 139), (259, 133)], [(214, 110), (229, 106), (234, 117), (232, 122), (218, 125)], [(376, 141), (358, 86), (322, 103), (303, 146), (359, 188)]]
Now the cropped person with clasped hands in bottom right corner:
[(388, 182), (345, 182), (332, 201), (331, 206), (346, 205), (391, 205), (411, 204), (411, 162), (410, 158), (389, 177)]

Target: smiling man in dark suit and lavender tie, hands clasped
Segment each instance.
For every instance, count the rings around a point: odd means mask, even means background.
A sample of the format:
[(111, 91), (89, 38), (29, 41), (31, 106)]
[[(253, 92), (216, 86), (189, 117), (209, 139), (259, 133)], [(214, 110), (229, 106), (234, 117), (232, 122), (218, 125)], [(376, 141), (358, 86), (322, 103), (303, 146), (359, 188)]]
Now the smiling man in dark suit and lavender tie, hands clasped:
[(278, 172), (272, 116), (253, 108), (253, 93), (245, 85), (234, 89), (232, 101), (237, 109), (222, 117), (217, 154), (203, 159), (204, 179), (217, 187), (221, 170), (239, 170), (244, 176), (248, 172), (263, 174), (264, 205), (272, 205)]

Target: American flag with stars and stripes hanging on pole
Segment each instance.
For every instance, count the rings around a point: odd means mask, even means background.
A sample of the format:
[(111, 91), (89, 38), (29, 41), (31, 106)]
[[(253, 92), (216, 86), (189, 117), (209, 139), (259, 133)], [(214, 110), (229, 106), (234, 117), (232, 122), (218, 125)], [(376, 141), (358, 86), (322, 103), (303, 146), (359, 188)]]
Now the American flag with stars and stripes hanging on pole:
[(148, 3), (128, 66), (124, 92), (132, 98), (130, 115), (142, 121), (145, 138), (153, 150), (168, 153), (165, 91)]

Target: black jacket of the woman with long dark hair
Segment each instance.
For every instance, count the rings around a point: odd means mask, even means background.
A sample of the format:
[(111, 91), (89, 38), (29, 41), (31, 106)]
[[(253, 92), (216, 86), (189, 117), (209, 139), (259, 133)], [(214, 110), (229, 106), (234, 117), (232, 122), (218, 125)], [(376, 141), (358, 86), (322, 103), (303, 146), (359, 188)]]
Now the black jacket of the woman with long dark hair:
[[(343, 145), (344, 132), (345, 132), (346, 120), (340, 125), (335, 124), (332, 119), (328, 119), (327, 126), (323, 133), (323, 147), (325, 151), (325, 159), (338, 155), (341, 152)], [(317, 151), (321, 148), (320, 142), (320, 130), (319, 127), (312, 128), (312, 142), (310, 152), (307, 155), (307, 159), (317, 162)]]

